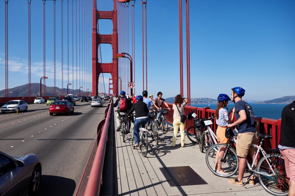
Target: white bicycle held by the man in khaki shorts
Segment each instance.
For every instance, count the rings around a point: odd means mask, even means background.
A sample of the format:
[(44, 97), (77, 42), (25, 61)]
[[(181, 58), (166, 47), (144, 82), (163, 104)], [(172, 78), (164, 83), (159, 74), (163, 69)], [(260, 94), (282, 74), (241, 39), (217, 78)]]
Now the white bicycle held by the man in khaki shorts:
[[(236, 129), (232, 131), (234, 135), (237, 135)], [(243, 186), (250, 180), (251, 177), (258, 177), (262, 187), (272, 195), (288, 195), (288, 180), (286, 177), (285, 163), (284, 158), (277, 150), (271, 149), (271, 154), (266, 154), (262, 148), (263, 141), (265, 139), (271, 139), (271, 135), (265, 135), (257, 133), (261, 138), (259, 145), (251, 144), (251, 146), (257, 149), (257, 153), (252, 162), (252, 165), (249, 164), (246, 159), (247, 168), (251, 176), (243, 184)], [(236, 151), (234, 150), (233, 142), (237, 142), (235, 137), (231, 137), (231, 140), (227, 144), (215, 144), (211, 146), (206, 153), (206, 164), (211, 172), (214, 175), (219, 177), (230, 177), (235, 175), (239, 168), (239, 159)], [(220, 163), (222, 170), (227, 174), (219, 174), (216, 169), (216, 152), (219, 147), (225, 147), (225, 152), (222, 157), (217, 157), (218, 162)], [(258, 162), (257, 167), (254, 165), (259, 152), (262, 152), (263, 157)], [(215, 156), (214, 156), (215, 155)]]

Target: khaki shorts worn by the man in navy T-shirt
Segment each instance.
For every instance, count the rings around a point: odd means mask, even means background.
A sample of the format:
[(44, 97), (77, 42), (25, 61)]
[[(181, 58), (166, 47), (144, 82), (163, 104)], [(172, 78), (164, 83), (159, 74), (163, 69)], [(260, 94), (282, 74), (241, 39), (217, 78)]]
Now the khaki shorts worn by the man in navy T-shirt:
[(258, 144), (259, 137), (257, 135), (257, 131), (255, 132), (247, 132), (247, 133), (239, 133), (237, 136), (237, 155), (239, 157), (247, 157), (249, 150), (253, 153), (257, 152), (257, 149), (251, 144)]

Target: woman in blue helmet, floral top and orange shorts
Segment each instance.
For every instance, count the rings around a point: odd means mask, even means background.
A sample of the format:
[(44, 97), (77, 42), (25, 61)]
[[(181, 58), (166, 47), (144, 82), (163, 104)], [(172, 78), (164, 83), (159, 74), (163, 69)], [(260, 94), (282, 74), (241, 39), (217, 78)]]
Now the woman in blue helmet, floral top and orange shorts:
[[(216, 109), (216, 124), (218, 125), (217, 130), (216, 130), (216, 136), (217, 136), (217, 141), (222, 144), (227, 144), (229, 139), (225, 137), (225, 129), (227, 128), (227, 125), (229, 123), (234, 122), (234, 117), (235, 117), (235, 107), (232, 110), (233, 114), (232, 117), (230, 118), (230, 115), (227, 112), (227, 104), (228, 101), (230, 101), (230, 97), (228, 97), (227, 94), (219, 94), (217, 97), (218, 104), (217, 104), (217, 109)], [(226, 109), (224, 109), (224, 107)], [(217, 153), (216, 153), (216, 160), (215, 160), (215, 169), (218, 174), (221, 175), (227, 175), (224, 170), (221, 170), (221, 164), (219, 162), (219, 157), (223, 157), (224, 152), (225, 152), (225, 147), (219, 147)]]

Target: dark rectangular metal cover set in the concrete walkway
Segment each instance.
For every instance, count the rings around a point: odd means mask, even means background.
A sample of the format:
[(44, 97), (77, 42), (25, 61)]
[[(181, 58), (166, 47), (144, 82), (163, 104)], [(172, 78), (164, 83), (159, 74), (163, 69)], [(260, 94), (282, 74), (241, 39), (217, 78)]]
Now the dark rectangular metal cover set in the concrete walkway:
[(208, 184), (189, 166), (160, 167), (160, 170), (171, 187)]

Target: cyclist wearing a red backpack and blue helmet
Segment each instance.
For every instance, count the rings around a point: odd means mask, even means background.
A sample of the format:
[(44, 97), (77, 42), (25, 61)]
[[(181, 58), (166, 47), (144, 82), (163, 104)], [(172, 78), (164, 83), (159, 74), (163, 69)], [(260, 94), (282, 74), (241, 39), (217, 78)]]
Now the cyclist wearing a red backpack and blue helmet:
[[(125, 116), (123, 117), (123, 119), (127, 122), (128, 118), (127, 118), (127, 112), (130, 109), (130, 107), (132, 107), (131, 102), (125, 97), (126, 93), (124, 91), (120, 92), (121, 98), (118, 98), (116, 100), (116, 102), (114, 103), (114, 107), (118, 106), (118, 113), (117, 113), (117, 131), (119, 131), (121, 129), (121, 116), (119, 114), (125, 114)], [(130, 123), (128, 123), (128, 131), (130, 130)]]

